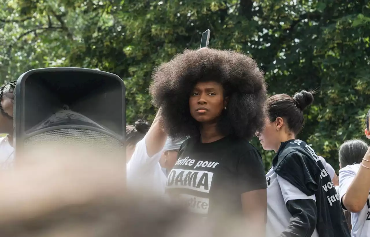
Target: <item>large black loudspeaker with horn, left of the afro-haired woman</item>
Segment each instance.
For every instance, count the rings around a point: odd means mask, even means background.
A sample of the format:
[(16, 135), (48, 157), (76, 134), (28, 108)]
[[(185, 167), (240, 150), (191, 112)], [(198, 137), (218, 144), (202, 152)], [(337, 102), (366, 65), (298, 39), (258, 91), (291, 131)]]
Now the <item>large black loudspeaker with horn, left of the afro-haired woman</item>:
[(105, 71), (51, 67), (22, 74), (14, 100), (15, 155), (41, 143), (73, 144), (125, 157), (125, 86)]

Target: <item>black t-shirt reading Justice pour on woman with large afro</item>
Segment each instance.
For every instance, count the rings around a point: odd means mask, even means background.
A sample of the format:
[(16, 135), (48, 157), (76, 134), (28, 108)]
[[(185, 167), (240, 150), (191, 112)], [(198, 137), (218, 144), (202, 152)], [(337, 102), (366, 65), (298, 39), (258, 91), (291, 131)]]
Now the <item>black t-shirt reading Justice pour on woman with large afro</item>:
[(166, 193), (201, 217), (239, 216), (241, 194), (266, 188), (262, 158), (248, 141), (233, 136), (212, 143), (189, 138), (168, 175)]

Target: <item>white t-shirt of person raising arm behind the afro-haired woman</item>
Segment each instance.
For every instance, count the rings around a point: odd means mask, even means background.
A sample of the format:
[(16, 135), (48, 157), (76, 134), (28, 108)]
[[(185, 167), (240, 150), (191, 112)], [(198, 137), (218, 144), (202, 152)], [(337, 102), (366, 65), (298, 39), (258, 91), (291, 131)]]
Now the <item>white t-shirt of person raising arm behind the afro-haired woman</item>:
[(149, 157), (145, 144), (146, 137), (136, 144), (134, 154), (127, 163), (127, 187), (131, 190), (162, 195), (165, 193), (167, 181), (159, 164), (162, 151)]

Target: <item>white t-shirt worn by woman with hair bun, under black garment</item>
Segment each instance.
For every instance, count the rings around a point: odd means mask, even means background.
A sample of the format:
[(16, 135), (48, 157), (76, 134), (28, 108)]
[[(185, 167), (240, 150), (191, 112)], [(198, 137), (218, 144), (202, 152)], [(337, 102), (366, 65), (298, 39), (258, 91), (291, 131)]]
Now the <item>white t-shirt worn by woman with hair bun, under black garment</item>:
[[(266, 174), (267, 182), (267, 224), (266, 236), (279, 236), (290, 224), (292, 215), (289, 213), (286, 203), (289, 200), (312, 199), (315, 195), (307, 196), (289, 181), (278, 176), (273, 168)], [(315, 228), (312, 237), (318, 237)]]

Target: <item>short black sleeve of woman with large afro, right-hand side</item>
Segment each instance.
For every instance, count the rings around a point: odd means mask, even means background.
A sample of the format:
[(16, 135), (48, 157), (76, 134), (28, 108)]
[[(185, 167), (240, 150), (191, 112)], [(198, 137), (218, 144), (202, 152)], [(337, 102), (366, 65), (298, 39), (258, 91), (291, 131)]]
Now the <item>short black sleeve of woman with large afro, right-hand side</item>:
[(240, 154), (237, 176), (240, 193), (267, 188), (265, 168), (257, 150), (252, 149)]

